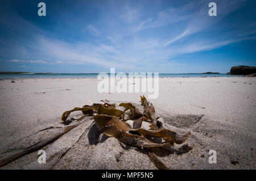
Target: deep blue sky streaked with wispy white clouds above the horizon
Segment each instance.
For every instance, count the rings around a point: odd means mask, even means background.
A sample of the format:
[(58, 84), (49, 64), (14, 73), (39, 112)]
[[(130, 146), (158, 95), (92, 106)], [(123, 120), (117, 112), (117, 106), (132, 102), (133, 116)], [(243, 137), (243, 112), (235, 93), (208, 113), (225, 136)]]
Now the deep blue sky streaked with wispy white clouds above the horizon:
[[(38, 16), (38, 3), (46, 16)], [(217, 16), (209, 16), (210, 2)], [(0, 71), (228, 73), (256, 66), (256, 1), (0, 2)]]

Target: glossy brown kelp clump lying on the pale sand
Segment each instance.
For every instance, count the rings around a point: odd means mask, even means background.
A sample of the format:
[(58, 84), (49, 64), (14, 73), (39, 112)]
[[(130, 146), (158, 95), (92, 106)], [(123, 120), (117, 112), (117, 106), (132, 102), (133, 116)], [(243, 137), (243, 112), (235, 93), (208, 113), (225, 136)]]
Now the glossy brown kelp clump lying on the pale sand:
[[(85, 105), (82, 108), (76, 107), (73, 110), (65, 111), (61, 120), (67, 123), (67, 117), (73, 111), (82, 111), (84, 115), (93, 116), (101, 134), (112, 136), (129, 145), (145, 148), (151, 161), (158, 169), (168, 169), (168, 167), (155, 155), (154, 148), (162, 148), (177, 154), (183, 154), (192, 149), (188, 145), (183, 145), (180, 148), (173, 146), (174, 144), (183, 144), (191, 133), (188, 132), (180, 136), (174, 131), (164, 129), (163, 119), (156, 118), (153, 104), (148, 102), (144, 96), (141, 96), (141, 104), (144, 106), (143, 113), (131, 103), (119, 104), (125, 108), (124, 111), (121, 111), (115, 108), (115, 104), (110, 104), (108, 100), (101, 101), (104, 104)], [(125, 117), (133, 120), (133, 128), (125, 122)], [(149, 130), (142, 128), (143, 121), (150, 124)], [(156, 138), (160, 139), (160, 142), (155, 142), (154, 139)]]

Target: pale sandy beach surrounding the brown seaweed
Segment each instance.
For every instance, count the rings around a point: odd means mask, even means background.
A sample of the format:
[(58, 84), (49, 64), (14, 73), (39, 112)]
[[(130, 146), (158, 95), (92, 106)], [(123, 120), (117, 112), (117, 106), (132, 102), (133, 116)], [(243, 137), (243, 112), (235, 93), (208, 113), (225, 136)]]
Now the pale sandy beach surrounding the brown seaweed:
[[(98, 82), (96, 78), (1, 80), (0, 159), (8, 150), (26, 149), (35, 140), (38, 144), (57, 134), (46, 128), (65, 127), (61, 115), (74, 107), (104, 99), (140, 106), (141, 93), (99, 93)], [(255, 90), (256, 78), (250, 77), (160, 78), (159, 97), (149, 101), (165, 128), (191, 132), (186, 144), (193, 150), (181, 155), (159, 152), (159, 159), (170, 169), (255, 169)], [(40, 131), (46, 132), (35, 134)], [(156, 169), (143, 149), (100, 135), (93, 120), (67, 134), (40, 148), (49, 150), (47, 156), (66, 149), (56, 161), (40, 165), (34, 150), (0, 169)], [(217, 163), (209, 164), (209, 150), (216, 150)]]

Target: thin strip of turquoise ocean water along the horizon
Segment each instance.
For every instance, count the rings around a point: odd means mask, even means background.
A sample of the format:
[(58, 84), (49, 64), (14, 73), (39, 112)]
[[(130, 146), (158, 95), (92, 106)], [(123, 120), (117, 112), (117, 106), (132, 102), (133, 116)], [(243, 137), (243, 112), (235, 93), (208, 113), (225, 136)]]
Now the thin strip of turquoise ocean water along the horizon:
[[(108, 74), (110, 77), (110, 74)], [(128, 77), (128, 74), (126, 73)], [(226, 74), (159, 74), (159, 77), (238, 77), (239, 75)], [(242, 75), (240, 75), (242, 76)], [(25, 79), (25, 78), (97, 78), (98, 73), (93, 74), (0, 74), (0, 79)], [(154, 74), (152, 74), (154, 77)]]

